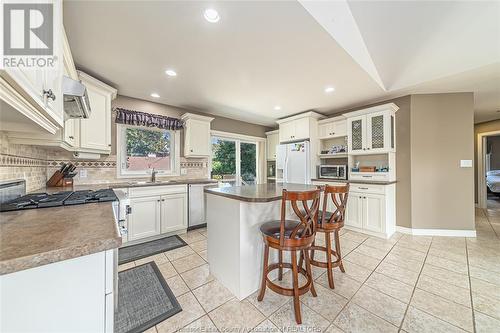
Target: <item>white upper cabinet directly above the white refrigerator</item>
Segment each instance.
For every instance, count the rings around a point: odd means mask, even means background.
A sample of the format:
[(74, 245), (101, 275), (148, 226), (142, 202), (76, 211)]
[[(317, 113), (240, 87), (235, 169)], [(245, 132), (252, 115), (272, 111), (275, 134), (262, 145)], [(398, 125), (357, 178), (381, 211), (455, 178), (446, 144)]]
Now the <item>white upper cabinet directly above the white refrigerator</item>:
[(278, 120), (279, 141), (293, 142), (316, 138), (320, 117), (320, 114), (310, 111)]

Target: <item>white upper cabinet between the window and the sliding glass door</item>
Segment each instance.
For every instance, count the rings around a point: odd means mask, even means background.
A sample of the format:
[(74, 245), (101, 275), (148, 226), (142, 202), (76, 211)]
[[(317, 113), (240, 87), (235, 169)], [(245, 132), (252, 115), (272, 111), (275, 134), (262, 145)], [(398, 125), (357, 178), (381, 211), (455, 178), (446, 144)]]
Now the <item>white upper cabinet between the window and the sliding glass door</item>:
[(214, 118), (185, 113), (181, 119), (184, 121), (184, 157), (210, 156), (210, 122)]

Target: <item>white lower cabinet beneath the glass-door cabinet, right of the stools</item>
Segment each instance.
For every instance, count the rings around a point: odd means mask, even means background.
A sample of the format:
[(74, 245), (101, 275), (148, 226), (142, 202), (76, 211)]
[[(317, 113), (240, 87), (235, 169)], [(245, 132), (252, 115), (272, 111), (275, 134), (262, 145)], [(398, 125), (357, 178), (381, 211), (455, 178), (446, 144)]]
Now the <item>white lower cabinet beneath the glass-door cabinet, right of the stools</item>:
[[(316, 181), (314, 185), (343, 185)], [(396, 231), (396, 185), (351, 184), (347, 199), (346, 228), (389, 238)], [(334, 211), (331, 199), (328, 211)]]

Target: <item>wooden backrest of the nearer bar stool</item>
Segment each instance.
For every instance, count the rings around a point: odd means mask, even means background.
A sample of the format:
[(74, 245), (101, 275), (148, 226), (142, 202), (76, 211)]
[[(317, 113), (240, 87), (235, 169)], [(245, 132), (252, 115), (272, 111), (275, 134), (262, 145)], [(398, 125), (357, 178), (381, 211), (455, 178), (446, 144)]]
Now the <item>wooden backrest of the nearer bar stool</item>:
[[(280, 224), (281, 246), (284, 246), (285, 242), (285, 215), (287, 202), (290, 202), (295, 215), (300, 220), (300, 223), (293, 229), (290, 239), (300, 239), (310, 237), (316, 232), (320, 197), (320, 188), (312, 191), (287, 191), (283, 189)], [(302, 203), (302, 208), (299, 208), (298, 203)]]

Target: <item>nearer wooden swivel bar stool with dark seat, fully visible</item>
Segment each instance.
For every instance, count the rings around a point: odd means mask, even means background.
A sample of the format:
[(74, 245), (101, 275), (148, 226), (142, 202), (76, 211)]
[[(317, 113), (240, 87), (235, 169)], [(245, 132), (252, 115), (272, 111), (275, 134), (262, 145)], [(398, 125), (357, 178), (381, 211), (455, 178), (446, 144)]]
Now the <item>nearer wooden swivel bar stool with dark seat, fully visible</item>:
[[(297, 324), (302, 323), (300, 314), (299, 296), (305, 294), (309, 290), (316, 297), (314, 290), (314, 282), (312, 278), (311, 264), (309, 257), (306, 256), (306, 269), (302, 265), (297, 264), (297, 251), (300, 251), (301, 256), (309, 251), (309, 248), (314, 242), (316, 236), (316, 225), (318, 220), (320, 200), (320, 189), (304, 192), (292, 192), (283, 190), (281, 199), (281, 220), (270, 221), (264, 223), (260, 227), (262, 237), (264, 238), (264, 265), (262, 268), (262, 282), (260, 293), (257, 300), (260, 302), (264, 299), (266, 287), (272, 291), (285, 295), (293, 296), (293, 305), (295, 310), (295, 320)], [(302, 207), (298, 207), (298, 202), (302, 202)], [(286, 220), (287, 203), (291, 204), (293, 212), (298, 217), (298, 220)], [(279, 251), (279, 262), (269, 264), (269, 248)], [(283, 252), (291, 252), (291, 263), (283, 263)], [(293, 288), (284, 288), (273, 283), (269, 277), (269, 272), (278, 269), (278, 279), (283, 277), (283, 267), (292, 269)], [(304, 275), (307, 282), (299, 287), (299, 273)]]

